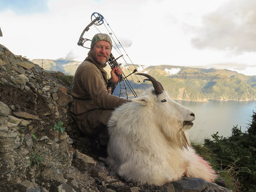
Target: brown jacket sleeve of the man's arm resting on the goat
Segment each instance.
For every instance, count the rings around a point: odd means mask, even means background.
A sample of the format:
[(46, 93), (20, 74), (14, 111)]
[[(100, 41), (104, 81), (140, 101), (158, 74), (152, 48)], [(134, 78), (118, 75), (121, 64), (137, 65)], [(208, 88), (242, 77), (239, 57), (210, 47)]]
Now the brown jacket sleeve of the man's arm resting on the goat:
[(107, 83), (98, 68), (90, 67), (81, 73), (81, 85), (90, 94), (92, 100), (102, 109), (115, 109), (131, 100), (111, 95), (107, 90)]

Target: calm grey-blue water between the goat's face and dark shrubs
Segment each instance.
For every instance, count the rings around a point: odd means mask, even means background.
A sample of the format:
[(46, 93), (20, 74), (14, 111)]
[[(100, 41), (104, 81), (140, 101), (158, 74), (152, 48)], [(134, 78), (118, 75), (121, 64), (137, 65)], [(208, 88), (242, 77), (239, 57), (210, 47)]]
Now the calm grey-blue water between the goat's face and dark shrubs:
[(256, 101), (215, 101), (195, 102), (176, 100), (195, 113), (194, 126), (188, 131), (191, 141), (202, 142), (218, 133), (223, 137), (231, 135), (231, 129), (238, 125), (244, 132), (256, 111)]

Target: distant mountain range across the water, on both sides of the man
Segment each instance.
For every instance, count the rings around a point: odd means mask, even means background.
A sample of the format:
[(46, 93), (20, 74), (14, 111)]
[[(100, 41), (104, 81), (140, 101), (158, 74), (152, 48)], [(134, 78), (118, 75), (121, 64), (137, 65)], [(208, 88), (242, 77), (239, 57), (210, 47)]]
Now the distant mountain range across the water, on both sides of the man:
[[(42, 66), (45, 70), (61, 71), (67, 75), (74, 75), (76, 68), (81, 62), (66, 60), (32, 60), (32, 62)], [(249, 101), (256, 100), (256, 76), (246, 76), (236, 71), (227, 69), (203, 69), (180, 66), (139, 66), (134, 65), (140, 73), (147, 73), (161, 82), (164, 89), (169, 92), (173, 99), (188, 101), (213, 100), (236, 100)], [(129, 75), (133, 69), (123, 68), (124, 74)], [(110, 67), (106, 68), (110, 71)], [(137, 78), (137, 79), (136, 79)], [(143, 91), (143, 87), (137, 76), (127, 78), (131, 87), (136, 91)], [(147, 83), (151, 86), (150, 83)], [(115, 94), (119, 94), (119, 87)], [(129, 95), (132, 95), (129, 91)]]

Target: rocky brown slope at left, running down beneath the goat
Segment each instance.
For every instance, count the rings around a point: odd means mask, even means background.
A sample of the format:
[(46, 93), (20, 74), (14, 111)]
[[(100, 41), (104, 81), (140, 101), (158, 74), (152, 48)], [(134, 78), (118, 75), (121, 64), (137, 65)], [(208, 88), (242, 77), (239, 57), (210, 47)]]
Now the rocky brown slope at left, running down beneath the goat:
[[(198, 178), (162, 187), (111, 175), (69, 115), (70, 87), (0, 45), (0, 191), (229, 191)], [(62, 122), (63, 133), (54, 130)]]

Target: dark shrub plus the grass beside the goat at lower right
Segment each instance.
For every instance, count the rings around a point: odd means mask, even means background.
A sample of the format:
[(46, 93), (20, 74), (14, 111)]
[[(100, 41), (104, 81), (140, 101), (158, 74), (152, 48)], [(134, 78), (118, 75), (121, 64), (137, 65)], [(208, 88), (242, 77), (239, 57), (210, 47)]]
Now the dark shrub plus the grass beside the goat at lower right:
[(230, 137), (220, 137), (217, 132), (212, 140), (193, 143), (193, 147), (219, 171), (219, 180), (225, 180), (229, 189), (256, 191), (256, 113), (246, 132), (234, 126)]

